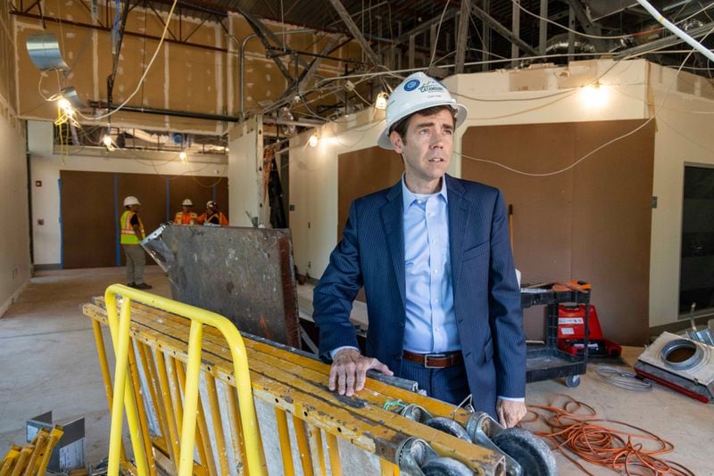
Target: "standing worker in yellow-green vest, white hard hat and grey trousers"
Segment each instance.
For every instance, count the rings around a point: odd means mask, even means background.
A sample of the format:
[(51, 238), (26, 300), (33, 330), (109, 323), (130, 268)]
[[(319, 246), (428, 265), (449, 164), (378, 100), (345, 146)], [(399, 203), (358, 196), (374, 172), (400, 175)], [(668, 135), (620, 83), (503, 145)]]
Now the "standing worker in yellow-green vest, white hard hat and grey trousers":
[(127, 257), (127, 285), (137, 289), (151, 289), (144, 283), (144, 265), (146, 257), (139, 244), (145, 237), (144, 224), (141, 223), (137, 197), (129, 195), (124, 199), (124, 213), (121, 214), (119, 225), (121, 230), (120, 243)]

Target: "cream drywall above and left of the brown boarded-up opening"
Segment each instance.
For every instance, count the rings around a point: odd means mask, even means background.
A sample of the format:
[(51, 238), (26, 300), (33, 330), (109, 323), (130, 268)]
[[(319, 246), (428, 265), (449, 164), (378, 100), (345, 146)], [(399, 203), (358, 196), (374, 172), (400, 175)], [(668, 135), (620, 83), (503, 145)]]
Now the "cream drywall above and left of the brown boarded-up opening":
[[(228, 174), (225, 156), (207, 162), (197, 162), (199, 159), (189, 156), (187, 162), (182, 162), (176, 152), (149, 153), (120, 149), (107, 152), (98, 147), (74, 148), (68, 151), (68, 155), (58, 154), (53, 147), (53, 127), (51, 122), (28, 121), (32, 240), (36, 265), (54, 266), (60, 263), (60, 170), (193, 175), (205, 177), (206, 184)], [(39, 220), (42, 220), (42, 225)]]

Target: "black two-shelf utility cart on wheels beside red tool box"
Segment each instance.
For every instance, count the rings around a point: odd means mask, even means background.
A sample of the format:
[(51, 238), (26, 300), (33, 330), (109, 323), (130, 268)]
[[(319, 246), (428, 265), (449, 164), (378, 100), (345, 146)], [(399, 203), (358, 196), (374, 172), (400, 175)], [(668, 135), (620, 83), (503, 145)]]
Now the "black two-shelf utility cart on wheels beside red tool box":
[[(588, 353), (588, 314), (590, 288), (586, 283), (549, 283), (522, 288), (521, 308), (545, 306), (545, 341), (528, 343), (526, 382), (540, 382), (565, 378), (569, 387), (580, 384), (585, 373)], [(558, 306), (560, 304), (585, 304), (585, 339), (583, 352), (574, 356), (558, 349)]]

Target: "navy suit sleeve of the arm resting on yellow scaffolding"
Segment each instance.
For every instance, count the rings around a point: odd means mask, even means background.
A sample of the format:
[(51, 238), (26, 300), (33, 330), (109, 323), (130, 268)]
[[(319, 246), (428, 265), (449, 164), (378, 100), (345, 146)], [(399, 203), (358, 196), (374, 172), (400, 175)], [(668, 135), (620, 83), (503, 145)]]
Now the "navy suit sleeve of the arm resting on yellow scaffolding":
[(353, 202), (342, 241), (330, 254), (328, 267), (313, 291), (312, 318), (320, 329), (320, 357), (330, 360), (330, 350), (338, 347), (359, 349), (350, 313), (361, 285), (357, 209)]

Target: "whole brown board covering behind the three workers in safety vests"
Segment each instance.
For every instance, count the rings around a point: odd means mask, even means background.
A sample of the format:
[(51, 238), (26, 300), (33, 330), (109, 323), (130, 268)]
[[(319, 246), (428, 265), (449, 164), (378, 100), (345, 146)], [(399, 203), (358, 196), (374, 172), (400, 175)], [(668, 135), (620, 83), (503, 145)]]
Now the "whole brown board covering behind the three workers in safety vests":
[[(122, 203), (128, 195), (136, 196), (141, 202), (139, 216), (146, 234), (167, 221), (167, 207), (172, 219), (185, 198), (194, 201), (196, 213), (203, 213), (205, 202), (213, 198), (213, 186), (221, 209), (228, 215), (228, 179), (225, 177), (68, 170), (60, 171), (60, 177), (62, 266), (67, 269), (116, 266), (116, 217), (124, 212)], [(120, 252), (120, 264), (123, 266), (124, 262), (124, 254)], [(153, 264), (154, 261), (147, 259), (146, 263)]]

